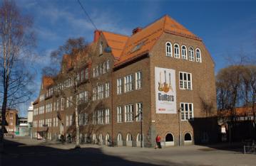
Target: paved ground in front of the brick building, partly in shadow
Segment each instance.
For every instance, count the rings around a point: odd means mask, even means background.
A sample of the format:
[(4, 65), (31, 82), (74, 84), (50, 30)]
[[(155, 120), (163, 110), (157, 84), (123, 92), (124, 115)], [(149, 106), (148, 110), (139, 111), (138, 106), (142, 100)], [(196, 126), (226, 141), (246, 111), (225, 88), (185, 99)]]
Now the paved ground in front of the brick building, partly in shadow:
[(45, 143), (29, 138), (6, 138), (0, 165), (256, 165), (256, 155), (244, 155), (240, 145), (190, 145), (153, 148), (106, 147)]

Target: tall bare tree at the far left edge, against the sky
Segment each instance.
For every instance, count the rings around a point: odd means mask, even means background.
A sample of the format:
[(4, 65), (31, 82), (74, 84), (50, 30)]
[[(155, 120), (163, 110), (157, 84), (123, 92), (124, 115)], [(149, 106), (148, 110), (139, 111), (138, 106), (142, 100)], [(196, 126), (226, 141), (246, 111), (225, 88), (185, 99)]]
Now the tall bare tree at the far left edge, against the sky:
[[(31, 72), (26, 64), (35, 46), (33, 21), (22, 16), (14, 1), (4, 0), (0, 6), (0, 101), (1, 128), (5, 126), (6, 108), (28, 101)], [(1, 132), (0, 141), (4, 134)]]

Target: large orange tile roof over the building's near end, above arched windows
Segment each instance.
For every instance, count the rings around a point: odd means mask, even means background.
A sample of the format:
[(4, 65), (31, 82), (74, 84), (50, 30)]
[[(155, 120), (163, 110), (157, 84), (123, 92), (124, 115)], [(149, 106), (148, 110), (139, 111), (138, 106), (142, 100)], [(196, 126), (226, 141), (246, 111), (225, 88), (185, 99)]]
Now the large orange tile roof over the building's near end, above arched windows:
[(170, 18), (168, 15), (165, 15), (154, 23), (142, 28), (130, 37), (106, 31), (101, 32), (106, 38), (108, 46), (111, 47), (113, 56), (118, 60), (116, 61), (115, 66), (121, 65), (149, 52), (158, 38), (160, 38), (160, 35), (164, 32), (180, 35), (185, 38), (201, 40), (198, 36), (188, 31), (187, 28), (180, 25), (180, 23), (173, 18)]

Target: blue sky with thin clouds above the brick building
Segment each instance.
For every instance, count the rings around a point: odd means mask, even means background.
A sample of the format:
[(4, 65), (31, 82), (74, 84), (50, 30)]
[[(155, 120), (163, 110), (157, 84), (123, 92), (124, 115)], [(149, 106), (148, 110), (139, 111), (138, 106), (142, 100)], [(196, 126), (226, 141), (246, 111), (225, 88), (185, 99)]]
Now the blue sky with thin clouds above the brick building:
[[(215, 72), (230, 64), (227, 56), (235, 59), (243, 52), (256, 59), (256, 1), (80, 1), (98, 29), (125, 35), (168, 14), (203, 39), (215, 60)], [(16, 4), (22, 13), (34, 16), (39, 91), (41, 68), (50, 61), (50, 52), (68, 38), (82, 36), (91, 42), (94, 28), (77, 0), (19, 0)]]

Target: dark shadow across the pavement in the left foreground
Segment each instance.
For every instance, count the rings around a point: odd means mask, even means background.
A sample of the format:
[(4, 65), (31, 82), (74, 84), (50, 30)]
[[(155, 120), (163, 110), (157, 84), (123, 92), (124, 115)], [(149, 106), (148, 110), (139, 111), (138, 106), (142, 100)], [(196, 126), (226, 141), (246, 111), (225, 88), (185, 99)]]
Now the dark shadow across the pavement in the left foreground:
[(24, 145), (5, 140), (0, 165), (151, 165), (104, 154), (99, 148), (61, 150), (43, 145)]

